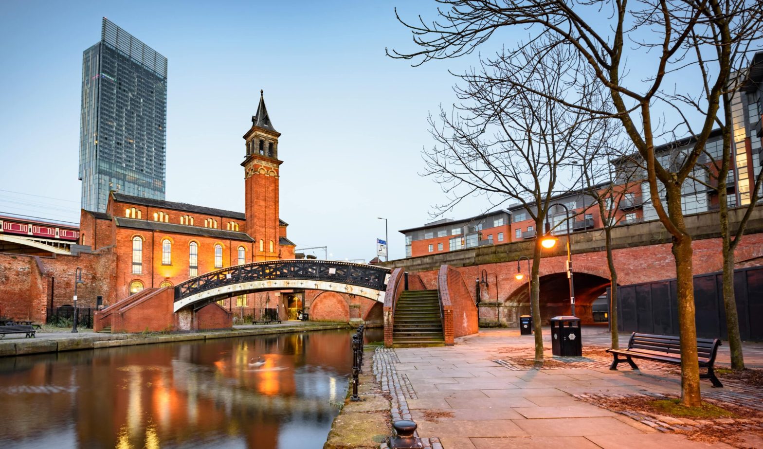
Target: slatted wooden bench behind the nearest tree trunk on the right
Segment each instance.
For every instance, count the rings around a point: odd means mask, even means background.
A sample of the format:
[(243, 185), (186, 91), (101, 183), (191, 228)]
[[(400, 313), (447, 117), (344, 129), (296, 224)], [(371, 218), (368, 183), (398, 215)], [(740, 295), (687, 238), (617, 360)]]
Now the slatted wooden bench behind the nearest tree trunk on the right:
[[(720, 340), (718, 338), (697, 338), (697, 358), (700, 368), (707, 368), (707, 374), (700, 374), (700, 379), (710, 379), (713, 386), (723, 386), (713, 371)], [(626, 361), (634, 370), (639, 367), (633, 358), (658, 361), (666, 364), (681, 365), (681, 339), (671, 335), (637, 334), (630, 335), (627, 349), (607, 349), (613, 361), (610, 370), (617, 370), (617, 364)], [(625, 358), (620, 358), (625, 356)]]

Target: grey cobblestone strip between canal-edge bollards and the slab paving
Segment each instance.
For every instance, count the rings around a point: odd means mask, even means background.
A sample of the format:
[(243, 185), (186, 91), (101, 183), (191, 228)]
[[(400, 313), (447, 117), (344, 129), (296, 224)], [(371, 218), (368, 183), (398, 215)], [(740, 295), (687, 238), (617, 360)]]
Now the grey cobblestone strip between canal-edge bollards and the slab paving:
[[(374, 375), (376, 381), (381, 384), (381, 390), (389, 393), (391, 396), (392, 422), (398, 422), (401, 419), (410, 420), (410, 410), (408, 409), (407, 399), (418, 399), (413, 386), (410, 384), (407, 375), (398, 374), (394, 364), (399, 363), (398, 354), (395, 354), (391, 348), (376, 348), (374, 352)], [(414, 432), (418, 437), (418, 432)], [(429, 449), (443, 449), (439, 438), (421, 438), (423, 447)], [(388, 444), (382, 443), (381, 449), (389, 449)]]

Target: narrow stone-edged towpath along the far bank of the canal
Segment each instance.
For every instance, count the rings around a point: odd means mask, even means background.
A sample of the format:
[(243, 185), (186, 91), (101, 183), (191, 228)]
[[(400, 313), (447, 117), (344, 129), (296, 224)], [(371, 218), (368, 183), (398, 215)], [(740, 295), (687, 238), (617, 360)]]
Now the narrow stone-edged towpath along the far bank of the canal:
[(92, 329), (78, 332), (44, 332), (38, 330), (35, 338), (21, 335), (6, 335), (0, 340), (0, 357), (43, 354), (48, 352), (77, 351), (81, 349), (114, 348), (118, 346), (150, 345), (153, 343), (188, 342), (214, 338), (247, 337), (250, 335), (280, 334), (286, 332), (308, 332), (329, 329), (349, 329), (346, 322), (285, 321), (280, 324), (237, 325), (233, 329), (204, 332), (155, 333), (141, 332), (103, 333)]

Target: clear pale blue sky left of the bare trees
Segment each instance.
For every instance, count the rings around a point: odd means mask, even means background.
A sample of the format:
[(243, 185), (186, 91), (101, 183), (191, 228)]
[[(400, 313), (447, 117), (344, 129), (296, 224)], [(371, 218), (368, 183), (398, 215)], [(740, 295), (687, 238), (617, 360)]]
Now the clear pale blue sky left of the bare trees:
[[(396, 3), (409, 18), (433, 8)], [(470, 59), (414, 69), (385, 56), (385, 47), (412, 47), (394, 6), (0, 2), (0, 212), (79, 220), (82, 50), (98, 42), (105, 16), (169, 59), (167, 200), (243, 211), (241, 136), (262, 88), (283, 134), (289, 237), (328, 245), (333, 258), (368, 261), (385, 216), (391, 258), (403, 257), (398, 229), (426, 223), (443, 201), (418, 175), (421, 148), (433, 145), (428, 111), (452, 103), (446, 69)], [(475, 200), (449, 216), (484, 206)]]

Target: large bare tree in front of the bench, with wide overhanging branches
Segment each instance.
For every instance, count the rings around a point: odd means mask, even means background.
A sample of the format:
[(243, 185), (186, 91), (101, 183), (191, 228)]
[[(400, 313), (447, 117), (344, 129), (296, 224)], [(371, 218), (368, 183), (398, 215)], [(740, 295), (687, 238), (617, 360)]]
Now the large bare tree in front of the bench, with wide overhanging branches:
[[(595, 75), (596, 82), (608, 91), (609, 105), (620, 120), (623, 131), (644, 159), (649, 194), (659, 220), (672, 237), (678, 286), (678, 321), (681, 329), (681, 403), (700, 406), (700, 380), (697, 360), (697, 330), (694, 324), (694, 284), (692, 279), (691, 235), (684, 223), (681, 186), (694, 169), (720, 108), (720, 99), (729, 79), (731, 46), (748, 37), (749, 24), (760, 21), (763, 9), (757, 2), (744, 0), (436, 0), (439, 21), (427, 24), (401, 22), (412, 30), (414, 43), (422, 50), (391, 56), (418, 60), (446, 59), (472, 53), (481, 43), (504, 27), (526, 30), (529, 42), (543, 42), (527, 64), (534, 67), (547, 59), (556, 47), (568, 47)], [(751, 20), (752, 18), (752, 20)], [(398, 19), (399, 16), (398, 16)], [(526, 48), (517, 43), (506, 53), (511, 59)], [(697, 50), (697, 47), (700, 47)], [(707, 49), (706, 49), (707, 47)], [(660, 113), (670, 109), (665, 90), (678, 91), (673, 79), (685, 80), (702, 75), (703, 65), (696, 54), (712, 51), (714, 78), (709, 88), (700, 92), (697, 103), (703, 104), (701, 126), (691, 132), (690, 117), (678, 108), (672, 113), (674, 123), (667, 123)], [(626, 61), (638, 60), (638, 75), (629, 76)], [(707, 75), (707, 74), (705, 74)], [(680, 76), (680, 79), (678, 79)], [(571, 76), (568, 85), (586, 88)], [(567, 107), (577, 107), (590, 114), (609, 116), (609, 112), (581, 104), (577, 98), (565, 98), (522, 85), (522, 77), (507, 73), (505, 80), (520, 88), (542, 95)], [(683, 85), (681, 87), (684, 87)], [(665, 166), (655, 159), (655, 140), (683, 130), (696, 136), (694, 148), (681, 163)], [(666, 204), (661, 201), (661, 191)]]

